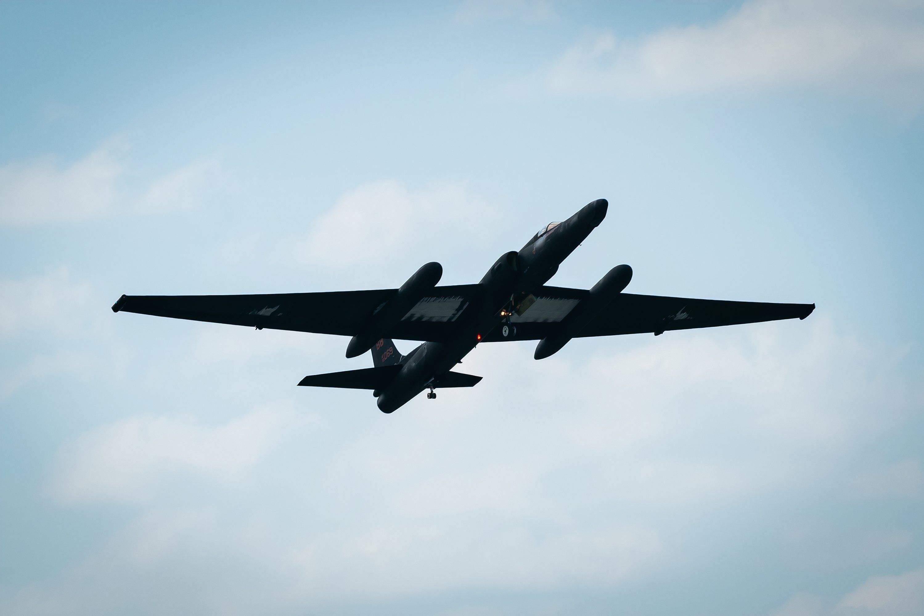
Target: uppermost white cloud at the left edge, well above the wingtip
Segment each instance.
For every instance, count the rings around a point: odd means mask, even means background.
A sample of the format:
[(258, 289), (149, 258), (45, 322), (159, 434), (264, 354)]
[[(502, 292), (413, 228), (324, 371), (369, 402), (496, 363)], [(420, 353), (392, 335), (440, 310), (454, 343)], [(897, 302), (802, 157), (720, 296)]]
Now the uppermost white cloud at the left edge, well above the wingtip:
[(72, 223), (116, 211), (192, 208), (220, 179), (220, 164), (204, 158), (137, 187), (127, 154), (124, 141), (113, 139), (73, 163), (48, 158), (0, 166), (0, 225)]

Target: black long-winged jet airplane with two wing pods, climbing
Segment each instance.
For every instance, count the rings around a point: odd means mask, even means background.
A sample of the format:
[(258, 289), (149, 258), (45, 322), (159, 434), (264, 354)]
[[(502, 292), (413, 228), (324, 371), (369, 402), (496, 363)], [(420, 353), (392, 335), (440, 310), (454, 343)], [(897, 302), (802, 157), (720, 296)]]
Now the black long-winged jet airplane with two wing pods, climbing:
[[(417, 394), (473, 387), (481, 377), (452, 368), (480, 343), (539, 340), (534, 357), (573, 338), (654, 333), (767, 320), (805, 319), (814, 304), (774, 304), (623, 293), (632, 268), (617, 265), (589, 290), (545, 283), (606, 216), (606, 199), (549, 223), (501, 256), (478, 284), (437, 286), (430, 262), (397, 289), (238, 296), (121, 296), (113, 312), (351, 336), (346, 356), (371, 350), (372, 368), (307, 376), (298, 384), (371, 390), (383, 413)], [(420, 341), (402, 355), (393, 339)]]

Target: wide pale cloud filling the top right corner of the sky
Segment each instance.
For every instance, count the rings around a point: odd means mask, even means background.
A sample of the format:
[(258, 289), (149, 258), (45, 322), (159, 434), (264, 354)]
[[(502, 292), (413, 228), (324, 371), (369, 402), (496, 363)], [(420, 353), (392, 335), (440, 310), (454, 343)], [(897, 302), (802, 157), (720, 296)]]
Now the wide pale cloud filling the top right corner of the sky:
[[(650, 98), (781, 88), (924, 97), (924, 6), (906, 0), (752, 0), (710, 24), (568, 49), (538, 76), (555, 95)], [(530, 85), (532, 84), (532, 85)]]

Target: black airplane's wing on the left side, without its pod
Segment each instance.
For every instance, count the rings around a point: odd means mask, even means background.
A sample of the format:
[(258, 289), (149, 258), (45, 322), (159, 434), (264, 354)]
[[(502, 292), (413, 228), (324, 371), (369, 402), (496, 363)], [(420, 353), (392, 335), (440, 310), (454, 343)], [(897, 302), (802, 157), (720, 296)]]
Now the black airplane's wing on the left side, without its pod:
[[(173, 319), (293, 332), (352, 336), (362, 331), (372, 313), (397, 289), (281, 293), (253, 296), (121, 296), (114, 312), (137, 312)], [(443, 342), (456, 320), (477, 300), (478, 284), (437, 286), (420, 299), (393, 329), (381, 332), (400, 340)]]

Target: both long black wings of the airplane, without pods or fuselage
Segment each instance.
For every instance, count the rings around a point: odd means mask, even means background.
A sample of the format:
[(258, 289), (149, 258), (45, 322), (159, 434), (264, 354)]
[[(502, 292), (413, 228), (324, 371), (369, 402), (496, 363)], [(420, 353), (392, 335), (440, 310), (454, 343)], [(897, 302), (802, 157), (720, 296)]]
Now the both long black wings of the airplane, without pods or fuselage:
[[(285, 293), (246, 296), (122, 296), (114, 312), (137, 312), (173, 319), (202, 320), (247, 327), (352, 336), (396, 289)], [(588, 295), (583, 289), (543, 286), (537, 301), (521, 316), (514, 340), (540, 340), (553, 332), (572, 308)], [(434, 287), (382, 335), (400, 340), (445, 342), (456, 321), (480, 296), (478, 284)], [(768, 304), (623, 293), (578, 337), (666, 332), (764, 320), (805, 319), (814, 304)], [(484, 342), (505, 340), (500, 328)]]

